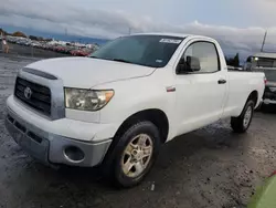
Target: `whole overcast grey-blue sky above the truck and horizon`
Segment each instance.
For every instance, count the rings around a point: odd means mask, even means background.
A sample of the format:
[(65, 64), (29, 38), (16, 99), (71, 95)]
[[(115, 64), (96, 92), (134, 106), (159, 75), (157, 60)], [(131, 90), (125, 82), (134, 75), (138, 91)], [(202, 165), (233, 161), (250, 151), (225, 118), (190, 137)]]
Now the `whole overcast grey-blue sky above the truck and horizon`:
[(229, 53), (276, 51), (276, 0), (0, 0), (0, 27), (116, 38), (181, 32), (217, 38)]

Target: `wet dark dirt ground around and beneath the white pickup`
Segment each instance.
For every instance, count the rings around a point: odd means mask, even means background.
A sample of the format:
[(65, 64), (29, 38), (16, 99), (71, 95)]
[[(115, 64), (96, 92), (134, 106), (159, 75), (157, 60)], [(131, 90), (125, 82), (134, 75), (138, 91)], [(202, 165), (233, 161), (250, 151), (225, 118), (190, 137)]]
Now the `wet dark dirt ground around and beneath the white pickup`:
[(263, 113), (244, 135), (221, 121), (166, 144), (152, 171), (132, 189), (112, 188), (97, 169), (45, 167), (3, 125), (17, 71), (33, 61), (0, 53), (1, 208), (237, 208), (276, 169), (275, 114)]

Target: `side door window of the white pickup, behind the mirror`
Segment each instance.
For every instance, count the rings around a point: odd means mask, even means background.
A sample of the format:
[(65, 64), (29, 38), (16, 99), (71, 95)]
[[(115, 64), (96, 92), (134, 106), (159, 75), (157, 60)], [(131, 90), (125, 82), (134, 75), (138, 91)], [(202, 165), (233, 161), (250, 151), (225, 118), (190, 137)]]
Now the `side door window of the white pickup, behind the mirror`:
[[(199, 62), (198, 70), (190, 69), (190, 60), (197, 60), (197, 62)], [(180, 63), (184, 64), (184, 69), (187, 69), (189, 73), (213, 73), (220, 71), (219, 54), (215, 45), (211, 42), (194, 42), (189, 45)]]

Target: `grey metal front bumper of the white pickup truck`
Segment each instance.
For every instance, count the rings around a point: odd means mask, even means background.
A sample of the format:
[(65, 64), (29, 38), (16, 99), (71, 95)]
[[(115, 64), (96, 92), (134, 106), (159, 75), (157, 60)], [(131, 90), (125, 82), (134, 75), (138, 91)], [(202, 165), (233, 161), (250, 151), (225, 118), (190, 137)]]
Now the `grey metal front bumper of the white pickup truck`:
[[(49, 165), (96, 166), (102, 163), (112, 143), (112, 139), (100, 143), (81, 142), (44, 132), (18, 116), (10, 108), (6, 117), (6, 127), (22, 149)], [(77, 147), (83, 152), (84, 157), (79, 160), (70, 159), (65, 154), (68, 147)]]

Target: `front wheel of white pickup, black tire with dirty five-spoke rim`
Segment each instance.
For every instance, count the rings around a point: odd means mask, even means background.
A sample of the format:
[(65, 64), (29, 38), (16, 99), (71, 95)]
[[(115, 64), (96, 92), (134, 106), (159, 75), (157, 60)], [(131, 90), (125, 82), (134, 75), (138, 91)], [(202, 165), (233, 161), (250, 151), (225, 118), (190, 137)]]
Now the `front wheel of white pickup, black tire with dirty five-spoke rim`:
[[(145, 145), (139, 146), (142, 142)], [(105, 173), (118, 188), (138, 185), (150, 171), (159, 153), (161, 143), (157, 126), (151, 122), (139, 122), (114, 141), (114, 144), (105, 159)]]

